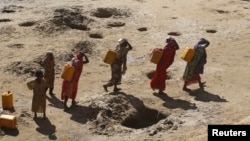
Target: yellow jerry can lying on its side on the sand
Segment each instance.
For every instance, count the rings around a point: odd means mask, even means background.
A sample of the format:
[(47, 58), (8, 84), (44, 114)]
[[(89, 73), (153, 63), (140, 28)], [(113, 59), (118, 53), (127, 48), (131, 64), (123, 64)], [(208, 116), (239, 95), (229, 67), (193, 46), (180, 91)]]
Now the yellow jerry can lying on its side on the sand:
[(0, 115), (0, 126), (5, 128), (16, 128), (17, 120), (13, 115)]

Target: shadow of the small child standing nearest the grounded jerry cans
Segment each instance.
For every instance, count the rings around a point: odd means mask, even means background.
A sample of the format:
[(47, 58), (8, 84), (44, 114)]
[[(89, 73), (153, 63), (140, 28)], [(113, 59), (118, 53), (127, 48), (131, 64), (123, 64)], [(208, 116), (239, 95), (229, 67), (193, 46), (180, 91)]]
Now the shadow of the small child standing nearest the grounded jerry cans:
[(39, 126), (36, 128), (36, 131), (43, 134), (47, 135), (50, 140), (56, 140), (57, 137), (55, 135), (56, 132), (56, 126), (52, 125), (50, 120), (48, 118), (37, 118), (35, 120), (36, 124)]

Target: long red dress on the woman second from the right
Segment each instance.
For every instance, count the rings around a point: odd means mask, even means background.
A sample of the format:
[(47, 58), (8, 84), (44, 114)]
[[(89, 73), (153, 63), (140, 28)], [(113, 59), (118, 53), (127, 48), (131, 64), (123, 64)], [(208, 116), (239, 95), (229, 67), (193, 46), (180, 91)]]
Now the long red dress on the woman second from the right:
[(159, 63), (156, 66), (156, 71), (150, 82), (150, 86), (153, 90), (165, 90), (165, 80), (167, 77), (166, 70), (174, 62), (176, 45), (177, 43), (175, 41), (171, 41), (163, 49), (160, 49), (161, 51), (163, 51), (163, 54)]

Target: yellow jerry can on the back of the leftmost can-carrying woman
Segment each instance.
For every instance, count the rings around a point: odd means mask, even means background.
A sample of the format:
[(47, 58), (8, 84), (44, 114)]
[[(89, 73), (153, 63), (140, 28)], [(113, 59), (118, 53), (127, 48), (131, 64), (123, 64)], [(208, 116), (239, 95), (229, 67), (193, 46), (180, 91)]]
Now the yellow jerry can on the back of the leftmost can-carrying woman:
[(75, 72), (75, 67), (71, 64), (67, 63), (63, 66), (63, 70), (61, 73), (61, 78), (67, 81), (71, 81)]

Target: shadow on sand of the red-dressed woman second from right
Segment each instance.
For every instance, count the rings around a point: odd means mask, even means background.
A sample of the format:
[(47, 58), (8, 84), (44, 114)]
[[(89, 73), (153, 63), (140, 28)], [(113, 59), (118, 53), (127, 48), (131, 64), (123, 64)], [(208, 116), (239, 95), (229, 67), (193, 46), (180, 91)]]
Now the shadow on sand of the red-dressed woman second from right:
[(169, 109), (176, 109), (176, 108), (181, 108), (184, 110), (189, 110), (189, 109), (197, 109), (195, 103), (190, 103), (185, 100), (181, 99), (173, 99), (169, 97), (166, 93), (153, 93), (154, 96), (159, 97), (162, 99), (165, 103), (163, 103), (163, 106)]

